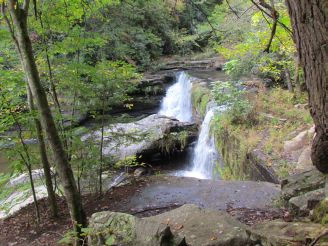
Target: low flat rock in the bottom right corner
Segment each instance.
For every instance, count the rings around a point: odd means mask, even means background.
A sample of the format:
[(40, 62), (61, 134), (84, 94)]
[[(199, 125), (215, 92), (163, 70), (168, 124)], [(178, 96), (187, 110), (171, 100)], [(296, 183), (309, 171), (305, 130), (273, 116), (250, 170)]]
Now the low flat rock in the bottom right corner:
[(254, 226), (252, 239), (263, 246), (309, 245), (324, 231), (325, 226), (321, 224), (274, 220)]

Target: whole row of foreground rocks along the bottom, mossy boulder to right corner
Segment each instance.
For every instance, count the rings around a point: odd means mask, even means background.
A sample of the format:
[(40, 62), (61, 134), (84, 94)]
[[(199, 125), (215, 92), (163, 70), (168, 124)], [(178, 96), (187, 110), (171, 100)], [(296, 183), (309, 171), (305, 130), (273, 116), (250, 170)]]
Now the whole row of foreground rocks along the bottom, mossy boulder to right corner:
[(308, 245), (325, 231), (324, 225), (281, 220), (248, 227), (224, 211), (192, 204), (146, 218), (99, 212), (92, 215), (89, 227), (91, 245), (135, 246)]

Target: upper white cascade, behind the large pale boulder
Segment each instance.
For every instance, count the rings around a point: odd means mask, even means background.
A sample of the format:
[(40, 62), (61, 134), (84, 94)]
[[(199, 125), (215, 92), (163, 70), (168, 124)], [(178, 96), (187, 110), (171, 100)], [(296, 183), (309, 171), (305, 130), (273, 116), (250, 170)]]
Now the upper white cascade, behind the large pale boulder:
[(176, 75), (174, 83), (166, 92), (159, 114), (182, 122), (192, 121), (191, 79), (185, 72)]

